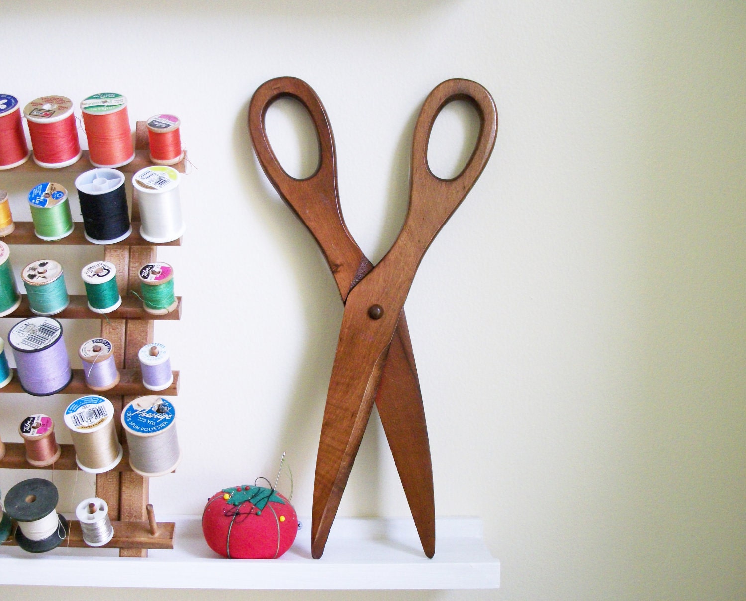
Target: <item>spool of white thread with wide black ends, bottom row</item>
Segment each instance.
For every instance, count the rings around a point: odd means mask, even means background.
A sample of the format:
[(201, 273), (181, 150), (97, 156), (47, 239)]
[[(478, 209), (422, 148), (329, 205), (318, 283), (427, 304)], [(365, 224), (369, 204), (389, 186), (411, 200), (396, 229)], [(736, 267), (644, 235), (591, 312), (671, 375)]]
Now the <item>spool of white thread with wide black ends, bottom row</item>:
[(18, 521), (19, 547), (29, 553), (45, 553), (65, 540), (67, 520), (54, 509), (59, 498), (57, 487), (43, 478), (23, 480), (7, 492), (5, 511)]

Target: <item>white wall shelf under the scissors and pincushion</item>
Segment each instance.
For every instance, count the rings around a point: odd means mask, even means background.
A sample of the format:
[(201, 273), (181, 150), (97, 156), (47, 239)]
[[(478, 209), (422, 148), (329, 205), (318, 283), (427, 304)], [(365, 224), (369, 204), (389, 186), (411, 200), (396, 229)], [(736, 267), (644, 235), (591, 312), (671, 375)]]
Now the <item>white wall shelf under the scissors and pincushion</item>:
[[(202, 537), (198, 516), (175, 521), (173, 550), (148, 559), (111, 549), (64, 549), (34, 555), (0, 547), (0, 584), (148, 588), (435, 589), (498, 588), (500, 562), (487, 550), (479, 518), (438, 518), (436, 553), (427, 559), (411, 518), (337, 518), (322, 559), (311, 559), (310, 519), (280, 559), (222, 559)], [(41, 562), (41, 563), (40, 563)], [(131, 564), (122, 569), (124, 564)], [(137, 565), (137, 567), (135, 567)], [(40, 571), (41, 570), (41, 571)], [(133, 578), (137, 570), (137, 578)]]

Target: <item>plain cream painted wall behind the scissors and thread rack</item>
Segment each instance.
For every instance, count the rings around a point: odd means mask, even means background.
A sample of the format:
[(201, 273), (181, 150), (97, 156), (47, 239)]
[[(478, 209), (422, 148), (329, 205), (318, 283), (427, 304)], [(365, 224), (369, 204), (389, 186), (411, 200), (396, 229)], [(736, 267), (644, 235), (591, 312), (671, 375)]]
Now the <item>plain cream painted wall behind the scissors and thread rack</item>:
[[(406, 212), (416, 112), (436, 83), (468, 77), (495, 97), (495, 153), (427, 252), (407, 315), (437, 512), (483, 518), (503, 586), (386, 598), (746, 597), (746, 4), (5, 0), (0, 17), (2, 92), (116, 91), (133, 119), (183, 121), (189, 229), (160, 257), (176, 267), (184, 319), (156, 334), (183, 374), (184, 462), (152, 481), (159, 512), (201, 512), (216, 490), (274, 474), (286, 450), (295, 506), (310, 513), (342, 308), (254, 161), (254, 89), (289, 74), (319, 93), (345, 219), (378, 260)], [(300, 169), (293, 115), (272, 123)], [(461, 141), (463, 114), (445, 118), (439, 156)], [(19, 218), (34, 183), (0, 174)], [(36, 252), (19, 249), (16, 270)], [(48, 254), (71, 274), (98, 256)], [(4, 336), (13, 322), (0, 321)], [(69, 398), (41, 402), (59, 415)], [(3, 399), (3, 439), (27, 403)], [(407, 514), (376, 420), (343, 515)], [(3, 471), (0, 488), (24, 477)], [(62, 509), (90, 494), (83, 479), (55, 481)], [(263, 594), (280, 596), (384, 594)]]

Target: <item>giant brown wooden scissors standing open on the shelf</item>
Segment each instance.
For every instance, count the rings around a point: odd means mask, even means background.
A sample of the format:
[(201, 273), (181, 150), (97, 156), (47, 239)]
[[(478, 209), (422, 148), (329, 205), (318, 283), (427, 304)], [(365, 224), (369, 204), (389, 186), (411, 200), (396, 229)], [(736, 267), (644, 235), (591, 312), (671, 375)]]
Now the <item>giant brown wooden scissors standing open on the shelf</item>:
[[(284, 171), (267, 138), (266, 111), (283, 97), (305, 106), (319, 135), (319, 167), (306, 179)], [(437, 115), (456, 100), (470, 101), (477, 109), (480, 133), (466, 167), (446, 180), (430, 171), (427, 144)], [(311, 524), (316, 559), (324, 553), (374, 401), (424, 553), (435, 553), (430, 444), (404, 301), (427, 247), (489, 160), (497, 127), (495, 102), (478, 83), (448, 80), (430, 92), (415, 126), (407, 218), (392, 248), (373, 267), (342, 218), (334, 137), (316, 92), (302, 80), (279, 77), (263, 83), (251, 98), (248, 130), (260, 165), (316, 238), (345, 303), (316, 460)]]

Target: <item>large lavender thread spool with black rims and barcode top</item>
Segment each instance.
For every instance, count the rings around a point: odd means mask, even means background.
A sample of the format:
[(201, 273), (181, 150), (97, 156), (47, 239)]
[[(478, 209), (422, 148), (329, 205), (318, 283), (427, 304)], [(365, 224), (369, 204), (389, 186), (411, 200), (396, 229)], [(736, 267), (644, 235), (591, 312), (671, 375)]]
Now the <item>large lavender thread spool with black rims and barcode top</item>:
[(62, 324), (52, 317), (29, 317), (16, 323), (8, 334), (16, 357), (16, 371), (24, 392), (49, 396), (72, 380)]

